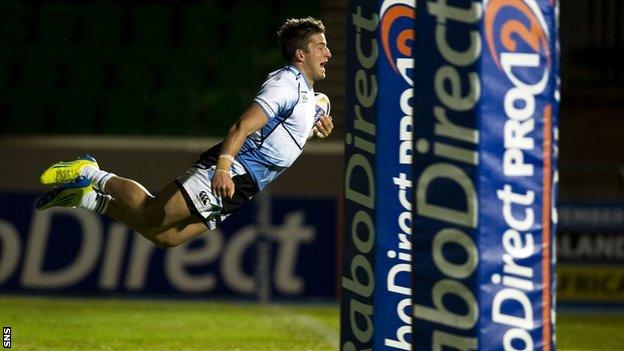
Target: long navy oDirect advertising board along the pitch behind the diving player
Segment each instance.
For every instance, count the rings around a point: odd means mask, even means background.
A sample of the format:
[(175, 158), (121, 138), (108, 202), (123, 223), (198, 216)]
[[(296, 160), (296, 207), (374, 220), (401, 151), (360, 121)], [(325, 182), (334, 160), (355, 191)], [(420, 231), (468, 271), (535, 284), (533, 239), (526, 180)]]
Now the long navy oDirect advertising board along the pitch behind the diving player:
[[(0, 193), (0, 290), (253, 296), (253, 203), (217, 230), (162, 250), (105, 216), (33, 210), (34, 194)], [(335, 296), (336, 201), (272, 201), (276, 298)]]

